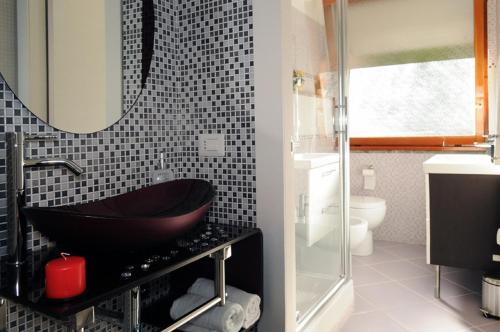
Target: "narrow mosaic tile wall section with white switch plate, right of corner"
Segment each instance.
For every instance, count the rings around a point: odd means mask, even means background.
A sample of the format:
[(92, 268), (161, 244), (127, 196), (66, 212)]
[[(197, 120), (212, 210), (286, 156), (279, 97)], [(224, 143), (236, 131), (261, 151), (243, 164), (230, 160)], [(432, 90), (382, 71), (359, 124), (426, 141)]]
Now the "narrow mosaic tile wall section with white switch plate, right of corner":
[[(179, 2), (182, 172), (208, 179), (210, 219), (255, 224), (255, 125), (250, 0)], [(199, 134), (223, 134), (224, 157), (199, 157)]]

